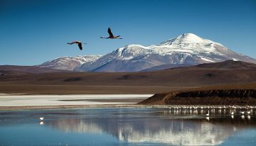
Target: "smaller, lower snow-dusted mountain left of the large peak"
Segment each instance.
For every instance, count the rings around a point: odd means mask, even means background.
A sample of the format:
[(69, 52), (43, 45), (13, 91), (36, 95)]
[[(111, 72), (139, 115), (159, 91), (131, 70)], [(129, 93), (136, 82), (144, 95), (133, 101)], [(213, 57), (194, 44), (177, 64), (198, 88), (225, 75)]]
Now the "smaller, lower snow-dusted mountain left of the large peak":
[(58, 57), (55, 60), (44, 62), (39, 64), (38, 67), (46, 67), (51, 69), (63, 69), (63, 70), (73, 70), (80, 64), (86, 62), (93, 62), (97, 60), (101, 55), (87, 55), (78, 57)]

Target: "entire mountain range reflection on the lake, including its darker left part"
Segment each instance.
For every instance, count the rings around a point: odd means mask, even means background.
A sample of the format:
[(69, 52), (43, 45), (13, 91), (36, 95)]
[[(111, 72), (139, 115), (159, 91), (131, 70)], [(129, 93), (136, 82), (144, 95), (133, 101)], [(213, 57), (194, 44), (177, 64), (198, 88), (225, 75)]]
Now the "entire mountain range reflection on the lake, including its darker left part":
[(238, 130), (240, 123), (230, 120), (149, 118), (115, 116), (112, 118), (65, 118), (47, 125), (65, 132), (109, 133), (126, 142), (156, 142), (170, 145), (219, 145)]

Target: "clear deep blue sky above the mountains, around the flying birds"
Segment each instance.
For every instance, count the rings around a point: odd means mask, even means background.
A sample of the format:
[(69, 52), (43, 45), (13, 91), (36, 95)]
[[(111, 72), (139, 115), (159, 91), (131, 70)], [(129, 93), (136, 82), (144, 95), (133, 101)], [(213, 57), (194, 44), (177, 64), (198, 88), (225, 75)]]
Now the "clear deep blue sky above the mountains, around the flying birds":
[[(0, 64), (105, 55), (194, 33), (256, 58), (256, 1), (0, 0)], [(107, 28), (123, 40), (105, 40)], [(69, 41), (87, 43), (84, 50)]]

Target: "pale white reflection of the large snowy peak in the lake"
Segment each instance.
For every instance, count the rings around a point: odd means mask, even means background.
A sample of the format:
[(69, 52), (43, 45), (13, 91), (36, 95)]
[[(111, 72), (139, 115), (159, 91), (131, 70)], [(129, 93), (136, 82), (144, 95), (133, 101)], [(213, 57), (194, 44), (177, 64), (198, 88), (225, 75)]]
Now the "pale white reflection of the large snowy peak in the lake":
[[(186, 120), (167, 120), (165, 123), (151, 121), (151, 126), (142, 130), (135, 129), (133, 125), (124, 125), (119, 128), (116, 135), (119, 140), (128, 142), (158, 142), (172, 145), (210, 145), (219, 144), (223, 137), (228, 137), (233, 129), (207, 123), (187, 122)], [(146, 124), (149, 124), (148, 122)], [(159, 124), (159, 125), (158, 125)]]

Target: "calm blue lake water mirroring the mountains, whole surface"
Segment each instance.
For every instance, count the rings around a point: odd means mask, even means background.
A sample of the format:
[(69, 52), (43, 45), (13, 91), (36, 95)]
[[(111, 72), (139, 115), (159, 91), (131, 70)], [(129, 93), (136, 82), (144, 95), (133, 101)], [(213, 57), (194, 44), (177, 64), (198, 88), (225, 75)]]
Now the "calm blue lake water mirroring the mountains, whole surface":
[[(245, 111), (242, 110), (242, 111)], [(0, 111), (0, 145), (256, 145), (255, 110)], [(45, 119), (40, 122), (39, 117)]]

